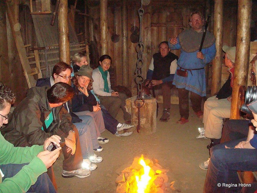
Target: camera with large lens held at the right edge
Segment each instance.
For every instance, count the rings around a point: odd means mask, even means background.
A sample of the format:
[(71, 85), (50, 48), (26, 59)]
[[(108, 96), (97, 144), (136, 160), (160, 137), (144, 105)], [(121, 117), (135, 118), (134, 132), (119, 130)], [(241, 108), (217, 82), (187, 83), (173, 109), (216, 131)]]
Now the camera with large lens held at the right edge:
[(251, 110), (247, 107), (249, 103), (254, 101), (257, 98), (257, 86), (248, 86), (245, 93), (244, 104), (241, 107), (241, 111), (249, 115), (253, 115)]

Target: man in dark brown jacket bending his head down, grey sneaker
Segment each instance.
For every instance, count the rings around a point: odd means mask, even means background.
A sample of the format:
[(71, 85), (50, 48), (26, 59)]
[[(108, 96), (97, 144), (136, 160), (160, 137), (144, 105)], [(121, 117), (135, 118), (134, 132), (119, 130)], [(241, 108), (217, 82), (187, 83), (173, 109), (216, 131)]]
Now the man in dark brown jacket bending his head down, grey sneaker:
[(27, 97), (13, 111), (2, 134), (16, 147), (42, 145), (46, 138), (60, 136), (64, 155), (62, 176), (85, 178), (90, 176), (91, 171), (82, 168), (79, 133), (71, 123), (70, 114), (63, 107), (63, 103), (69, 101), (73, 95), (72, 87), (62, 82), (51, 88), (30, 88)]

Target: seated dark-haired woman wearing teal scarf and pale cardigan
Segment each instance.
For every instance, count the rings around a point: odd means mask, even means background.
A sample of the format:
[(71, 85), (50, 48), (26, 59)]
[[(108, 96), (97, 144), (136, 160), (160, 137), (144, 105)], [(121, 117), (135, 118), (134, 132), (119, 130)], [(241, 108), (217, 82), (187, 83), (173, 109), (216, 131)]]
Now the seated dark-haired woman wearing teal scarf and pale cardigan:
[(98, 68), (93, 70), (92, 75), (95, 94), (114, 118), (118, 114), (119, 108), (121, 108), (124, 113), (125, 122), (130, 124), (131, 115), (127, 113), (125, 108), (127, 96), (122, 92), (118, 93), (111, 89), (110, 74), (108, 72), (111, 66), (111, 57), (109, 55), (102, 55), (99, 59), (99, 64)]

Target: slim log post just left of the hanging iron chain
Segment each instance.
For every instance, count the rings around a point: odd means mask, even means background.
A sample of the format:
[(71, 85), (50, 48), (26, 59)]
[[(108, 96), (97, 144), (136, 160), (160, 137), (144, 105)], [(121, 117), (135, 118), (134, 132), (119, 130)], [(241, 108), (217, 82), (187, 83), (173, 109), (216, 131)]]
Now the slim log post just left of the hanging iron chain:
[[(115, 14), (115, 13), (114, 13)], [(128, 60), (128, 21), (127, 21), (127, 0), (122, 0), (121, 5), (121, 65), (122, 85), (128, 86), (129, 60)]]

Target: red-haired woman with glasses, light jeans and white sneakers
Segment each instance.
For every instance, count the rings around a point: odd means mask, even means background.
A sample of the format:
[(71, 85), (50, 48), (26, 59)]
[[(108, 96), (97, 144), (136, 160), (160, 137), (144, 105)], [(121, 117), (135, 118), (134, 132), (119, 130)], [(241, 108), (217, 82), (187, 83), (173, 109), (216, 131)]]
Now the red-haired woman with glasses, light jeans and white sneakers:
[[(55, 83), (63, 82), (68, 83), (70, 80), (70, 74), (72, 68), (65, 62), (58, 62), (52, 71), (52, 76), (50, 78), (40, 78), (37, 80), (36, 86), (49, 85), (53, 86)], [(100, 152), (103, 150), (98, 144), (96, 123), (92, 116), (83, 115), (77, 116), (72, 113), (68, 108), (68, 103), (63, 104), (64, 108), (72, 116), (72, 123), (75, 124), (79, 131), (79, 141), (82, 151), (82, 156), (86, 167), (90, 170), (96, 169), (96, 165), (91, 162), (98, 163), (102, 161), (102, 157), (98, 157), (94, 154), (93, 150)], [(100, 133), (99, 133), (100, 136)]]

